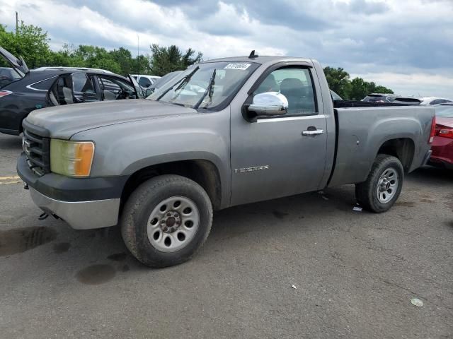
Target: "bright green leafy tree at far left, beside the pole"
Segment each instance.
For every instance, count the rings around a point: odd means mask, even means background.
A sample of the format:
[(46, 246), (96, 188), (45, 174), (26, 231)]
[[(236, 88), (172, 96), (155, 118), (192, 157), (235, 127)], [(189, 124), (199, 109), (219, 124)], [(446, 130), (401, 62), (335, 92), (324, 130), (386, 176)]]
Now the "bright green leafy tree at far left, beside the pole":
[(47, 32), (34, 25), (25, 25), (23, 21), (17, 32), (8, 32), (0, 24), (0, 46), (16, 57), (22, 56), (30, 69), (45, 65), (52, 51)]

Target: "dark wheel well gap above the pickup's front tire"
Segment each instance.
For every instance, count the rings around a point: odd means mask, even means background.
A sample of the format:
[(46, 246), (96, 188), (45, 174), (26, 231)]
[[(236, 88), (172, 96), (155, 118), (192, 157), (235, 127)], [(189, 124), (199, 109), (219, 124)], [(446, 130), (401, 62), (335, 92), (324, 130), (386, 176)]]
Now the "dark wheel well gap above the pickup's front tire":
[(220, 186), (220, 176), (217, 167), (208, 160), (182, 160), (152, 165), (134, 172), (127, 179), (125, 188), (122, 190), (120, 210), (122, 210), (129, 196), (140, 184), (162, 174), (178, 174), (182, 177), (192, 179), (205, 189), (207, 195), (210, 197), (212, 208), (214, 210), (220, 208), (222, 187)]

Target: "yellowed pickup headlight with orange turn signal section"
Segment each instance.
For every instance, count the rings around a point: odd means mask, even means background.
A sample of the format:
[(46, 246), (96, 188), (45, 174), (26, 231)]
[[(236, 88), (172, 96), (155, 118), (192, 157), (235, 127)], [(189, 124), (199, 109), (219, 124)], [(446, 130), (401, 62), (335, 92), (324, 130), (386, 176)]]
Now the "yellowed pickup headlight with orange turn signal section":
[(50, 139), (50, 171), (68, 177), (88, 177), (94, 143)]

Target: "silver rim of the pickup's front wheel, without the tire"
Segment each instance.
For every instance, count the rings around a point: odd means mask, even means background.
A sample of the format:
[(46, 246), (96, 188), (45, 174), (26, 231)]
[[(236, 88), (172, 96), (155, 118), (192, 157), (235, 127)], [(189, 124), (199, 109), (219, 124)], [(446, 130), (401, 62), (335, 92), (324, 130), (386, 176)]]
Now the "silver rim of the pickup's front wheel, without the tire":
[(200, 213), (193, 201), (172, 196), (157, 204), (147, 223), (151, 245), (161, 252), (174, 252), (187, 246), (200, 225)]

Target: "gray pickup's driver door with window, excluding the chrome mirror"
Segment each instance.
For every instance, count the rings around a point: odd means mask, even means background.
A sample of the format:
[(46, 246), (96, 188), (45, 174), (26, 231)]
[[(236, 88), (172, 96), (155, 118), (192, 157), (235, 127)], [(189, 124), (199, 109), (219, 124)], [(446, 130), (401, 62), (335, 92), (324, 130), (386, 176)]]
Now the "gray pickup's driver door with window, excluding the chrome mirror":
[(288, 110), (248, 122), (232, 106), (231, 204), (316, 191), (326, 165), (327, 133), (311, 69), (275, 69), (253, 88), (247, 101), (258, 93), (280, 92), (287, 97)]

